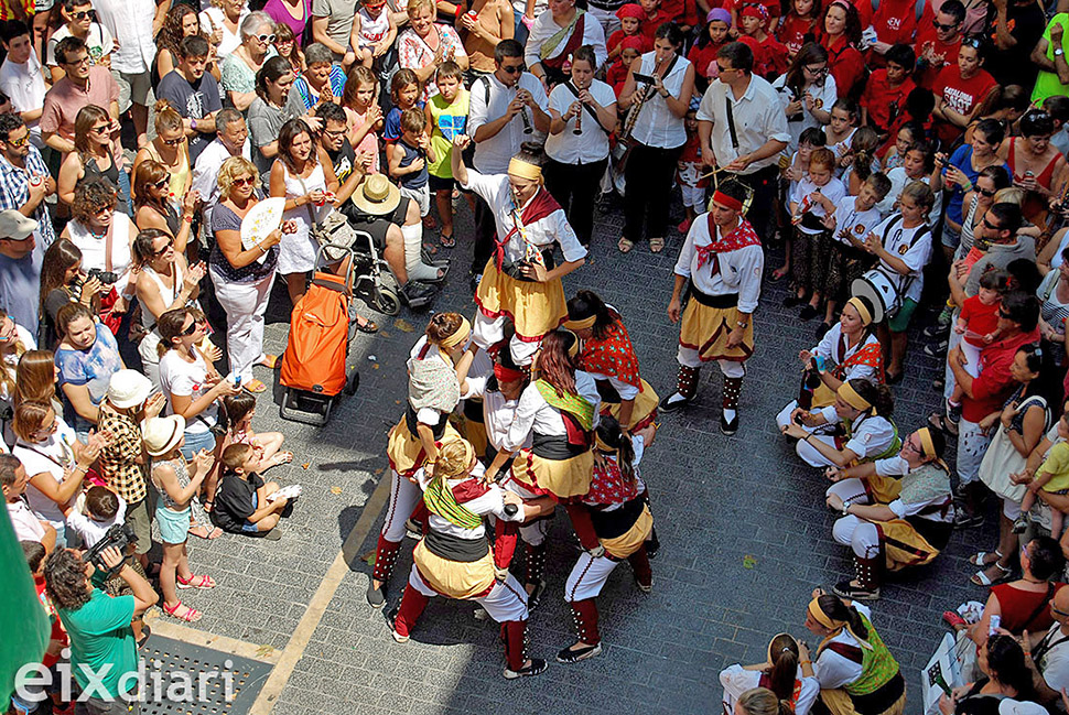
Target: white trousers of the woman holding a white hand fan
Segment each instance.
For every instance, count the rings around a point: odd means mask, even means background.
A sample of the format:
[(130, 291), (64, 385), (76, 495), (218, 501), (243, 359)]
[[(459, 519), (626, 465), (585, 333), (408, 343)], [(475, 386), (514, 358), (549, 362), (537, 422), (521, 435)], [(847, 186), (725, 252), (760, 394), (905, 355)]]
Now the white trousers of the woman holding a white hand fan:
[(263, 315), (274, 284), (274, 273), (253, 283), (227, 281), (209, 270), (215, 296), (226, 311), (226, 350), (230, 373), (252, 379), (252, 365), (263, 358)]

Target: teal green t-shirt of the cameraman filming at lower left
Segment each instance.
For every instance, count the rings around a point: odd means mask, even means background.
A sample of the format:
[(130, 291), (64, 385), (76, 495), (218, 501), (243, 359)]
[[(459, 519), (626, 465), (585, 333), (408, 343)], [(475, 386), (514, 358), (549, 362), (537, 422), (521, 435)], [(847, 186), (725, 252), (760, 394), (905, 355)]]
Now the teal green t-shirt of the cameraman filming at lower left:
[[(138, 644), (130, 628), (134, 607), (133, 596), (112, 598), (94, 588), (89, 602), (82, 608), (60, 610), (60, 620), (71, 636), (71, 668), (79, 686), (89, 684), (89, 679), (79, 668), (82, 663), (95, 674), (102, 672), (106, 664), (111, 664), (101, 682), (112, 696), (137, 686), (138, 679), (131, 676), (122, 682), (122, 690), (119, 690), (119, 679), (125, 673), (138, 671)], [(99, 690), (94, 691), (93, 695), (99, 697)]]

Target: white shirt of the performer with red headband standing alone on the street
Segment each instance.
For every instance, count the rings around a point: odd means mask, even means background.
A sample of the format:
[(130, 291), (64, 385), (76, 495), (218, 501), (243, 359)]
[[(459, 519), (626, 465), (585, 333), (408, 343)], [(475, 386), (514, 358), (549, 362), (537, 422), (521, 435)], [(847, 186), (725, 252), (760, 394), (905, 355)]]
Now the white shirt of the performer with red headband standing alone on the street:
[[(720, 227), (714, 226), (714, 228), (716, 240), (720, 240)], [(716, 261), (710, 260), (698, 268), (698, 251), (694, 248), (709, 246), (712, 242), (713, 239), (709, 235), (709, 214), (702, 214), (691, 223), (690, 230), (687, 231), (687, 239), (676, 261), (676, 275), (689, 278), (705, 295), (738, 293), (738, 311), (753, 313), (757, 310), (757, 300), (760, 297), (760, 275), (765, 269), (765, 252), (758, 245), (747, 246), (737, 251), (716, 253)], [(713, 274), (714, 264), (720, 267), (715, 274)]]

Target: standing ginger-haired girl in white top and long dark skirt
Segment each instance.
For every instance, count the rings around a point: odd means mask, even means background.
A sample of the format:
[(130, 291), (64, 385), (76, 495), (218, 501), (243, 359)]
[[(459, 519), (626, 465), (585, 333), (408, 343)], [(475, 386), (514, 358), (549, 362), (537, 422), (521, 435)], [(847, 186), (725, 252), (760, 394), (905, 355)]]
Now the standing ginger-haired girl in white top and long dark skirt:
[[(821, 300), (816, 286), (828, 273), (831, 254), (831, 230), (823, 218), (834, 214), (846, 197), (846, 187), (835, 178), (835, 154), (827, 148), (814, 149), (809, 156), (809, 175), (798, 182), (790, 196), (790, 223), (796, 227), (791, 257), (791, 278), (795, 293), (787, 296), (786, 307), (799, 305), (809, 296), (799, 316), (803, 321), (817, 316)], [(821, 335), (823, 337), (823, 335)]]

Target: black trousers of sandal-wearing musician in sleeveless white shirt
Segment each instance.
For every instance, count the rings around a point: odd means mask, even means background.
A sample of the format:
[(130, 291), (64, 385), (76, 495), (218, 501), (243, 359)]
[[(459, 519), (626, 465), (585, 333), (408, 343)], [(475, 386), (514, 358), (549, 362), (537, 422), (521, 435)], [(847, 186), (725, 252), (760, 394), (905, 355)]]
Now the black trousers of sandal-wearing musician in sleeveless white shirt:
[[(624, 238), (665, 238), (668, 207), (672, 197), (672, 176), (683, 147), (660, 149), (635, 144), (624, 169)], [(643, 232), (643, 219), (646, 232)]]

